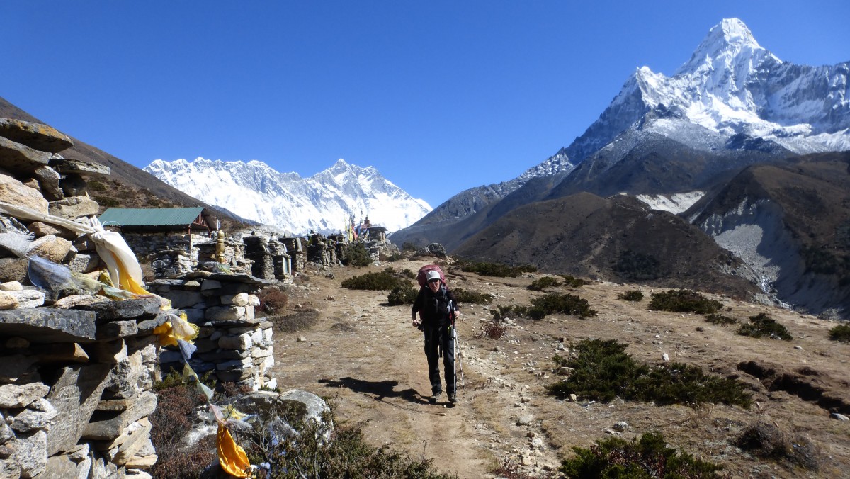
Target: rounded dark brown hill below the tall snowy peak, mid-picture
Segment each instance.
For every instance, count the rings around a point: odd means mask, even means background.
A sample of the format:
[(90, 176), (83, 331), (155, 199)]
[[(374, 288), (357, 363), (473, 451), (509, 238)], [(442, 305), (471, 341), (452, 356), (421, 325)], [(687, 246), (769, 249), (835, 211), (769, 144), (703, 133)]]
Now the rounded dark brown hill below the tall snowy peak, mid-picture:
[(727, 274), (740, 261), (682, 218), (632, 197), (590, 193), (517, 208), (470, 237), (455, 254), (616, 282), (701, 288), (740, 298), (757, 293)]

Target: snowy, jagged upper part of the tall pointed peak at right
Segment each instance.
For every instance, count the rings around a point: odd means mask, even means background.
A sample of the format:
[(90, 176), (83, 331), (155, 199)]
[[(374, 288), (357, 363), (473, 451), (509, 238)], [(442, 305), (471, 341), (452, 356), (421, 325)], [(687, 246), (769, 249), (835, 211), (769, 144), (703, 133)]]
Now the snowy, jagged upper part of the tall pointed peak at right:
[(744, 135), (796, 154), (850, 150), (848, 71), (850, 62), (816, 67), (779, 60), (741, 20), (723, 20), (672, 77), (638, 68), (565, 152), (570, 163), (581, 163), (636, 127), (694, 144), (700, 137), (694, 126), (719, 141)]

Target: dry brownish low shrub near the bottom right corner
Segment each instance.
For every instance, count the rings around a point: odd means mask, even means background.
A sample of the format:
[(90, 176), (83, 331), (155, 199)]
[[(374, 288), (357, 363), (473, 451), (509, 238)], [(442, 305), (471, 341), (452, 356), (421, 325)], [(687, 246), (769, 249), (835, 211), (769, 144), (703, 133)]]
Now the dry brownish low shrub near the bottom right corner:
[(799, 435), (789, 437), (776, 425), (763, 422), (749, 425), (734, 444), (762, 459), (788, 461), (808, 470), (819, 469), (819, 458), (812, 442)]

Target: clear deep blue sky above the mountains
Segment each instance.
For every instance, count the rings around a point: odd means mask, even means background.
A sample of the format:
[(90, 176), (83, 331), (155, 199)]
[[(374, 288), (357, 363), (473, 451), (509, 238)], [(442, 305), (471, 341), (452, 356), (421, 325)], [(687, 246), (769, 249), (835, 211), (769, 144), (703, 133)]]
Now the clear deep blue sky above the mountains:
[(845, 0), (30, 0), (0, 4), (0, 97), (139, 168), (343, 158), (436, 207), (570, 145), (732, 17), (782, 60), (850, 60)]

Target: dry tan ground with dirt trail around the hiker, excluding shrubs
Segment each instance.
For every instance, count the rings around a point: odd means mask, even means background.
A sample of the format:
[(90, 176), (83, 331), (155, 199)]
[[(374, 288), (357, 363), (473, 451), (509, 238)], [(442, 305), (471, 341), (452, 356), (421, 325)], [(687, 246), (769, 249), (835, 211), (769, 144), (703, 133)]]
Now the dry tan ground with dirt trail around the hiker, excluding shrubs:
[[(416, 271), (424, 264), (416, 259), (391, 265), (397, 271)], [(634, 304), (617, 299), (617, 294), (639, 285), (594, 282), (570, 293), (587, 299), (598, 311), (597, 317), (519, 321), (505, 337), (493, 340), (478, 337), (481, 322), (490, 319), (488, 307), (464, 305), (458, 332), (466, 387), (460, 390), (462, 402), (448, 408), (423, 399), (430, 391), (427, 369), (421, 336), (409, 324), (409, 308), (386, 305), (386, 292), (340, 288), (347, 277), (385, 266), (309, 271), (309, 282), (299, 281), (290, 289), (288, 309), (317, 308), (319, 321), (307, 331), (275, 331), (275, 375), (280, 387), (303, 388), (330, 397), (339, 418), (362, 424), (376, 446), (388, 443), (417, 458), (435, 459), (439, 470), (461, 477), (486, 477), (506, 457), (519, 463), (523, 455), (530, 463), (524, 470), (542, 471), (569, 457), (571, 448), (588, 447), (609, 437), (606, 431), (615, 422), (626, 421), (629, 429), (622, 437), (661, 431), (672, 445), (724, 465), (733, 477), (848, 475), (847, 422), (829, 419), (827, 410), (793, 391), (768, 391), (761, 381), (737, 368), (740, 362), (751, 360), (781, 365), (791, 377), (808, 380), (816, 389), (850, 403), (850, 346), (826, 339), (835, 323), (711, 296), (723, 302), (728, 309), (725, 314), (745, 321), (766, 312), (794, 336), (791, 342), (751, 339), (736, 335), (734, 327), (706, 323), (702, 316), (649, 311), (649, 294), (660, 289), (643, 287), (647, 298)], [(326, 277), (327, 272), (333, 278)], [(453, 288), (495, 294), (496, 305), (508, 305), (526, 304), (530, 297), (541, 294), (525, 288), (537, 277), (541, 275), (487, 278), (450, 271), (449, 281)], [(697, 331), (698, 327), (704, 331)], [(299, 336), (307, 340), (298, 342)], [(750, 385), (757, 406), (694, 411), (685, 406), (656, 407), (619, 400), (600, 404), (581, 398), (568, 402), (548, 396), (545, 385), (557, 380), (551, 371), (552, 356), (564, 354), (560, 345), (569, 347), (570, 342), (587, 338), (617, 339), (629, 345), (628, 353), (646, 362), (660, 362), (667, 353), (673, 361), (738, 377)], [(517, 425), (522, 414), (533, 415), (530, 425)], [(735, 448), (734, 438), (757, 420), (775, 423), (788, 435), (808, 437), (818, 451), (820, 470), (754, 459)], [(534, 449), (537, 453), (531, 452), (530, 436), (542, 439), (543, 448)]]

